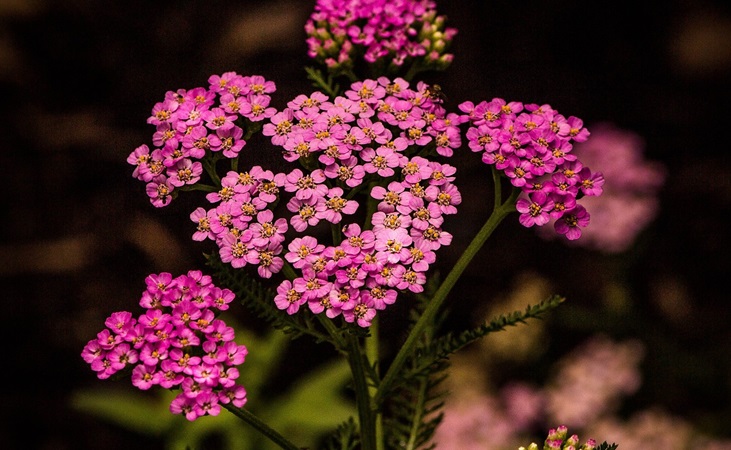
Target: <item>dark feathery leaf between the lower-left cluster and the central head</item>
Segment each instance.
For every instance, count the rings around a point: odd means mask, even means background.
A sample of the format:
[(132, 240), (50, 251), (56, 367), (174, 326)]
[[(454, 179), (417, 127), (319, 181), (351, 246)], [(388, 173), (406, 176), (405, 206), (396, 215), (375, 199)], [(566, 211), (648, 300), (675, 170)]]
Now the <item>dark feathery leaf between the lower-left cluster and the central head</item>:
[(309, 335), (316, 342), (329, 342), (338, 348), (333, 338), (318, 327), (317, 319), (310, 311), (287, 314), (274, 303), (274, 291), (264, 286), (258, 278), (245, 270), (235, 269), (230, 264), (222, 262), (217, 253), (206, 254), (205, 257), (208, 266), (213, 270), (213, 276), (221, 285), (233, 291), (244, 307), (267, 321), (272, 327), (288, 334), (292, 339)]

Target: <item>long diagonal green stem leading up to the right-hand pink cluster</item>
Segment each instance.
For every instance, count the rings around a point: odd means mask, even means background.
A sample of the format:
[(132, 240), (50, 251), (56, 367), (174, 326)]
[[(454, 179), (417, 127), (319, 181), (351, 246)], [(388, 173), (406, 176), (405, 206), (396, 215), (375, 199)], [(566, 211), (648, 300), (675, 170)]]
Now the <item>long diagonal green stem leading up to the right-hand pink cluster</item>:
[[(499, 189), (500, 177), (499, 174), (493, 169), (493, 180), (495, 182), (495, 189)], [(434, 293), (434, 297), (429, 302), (429, 305), (424, 310), (419, 320), (414, 325), (414, 328), (406, 338), (406, 342), (401, 346), (401, 349), (396, 354), (391, 366), (388, 368), (386, 375), (381, 380), (378, 392), (376, 393), (373, 401), (376, 407), (380, 406), (386, 395), (391, 390), (391, 386), (396, 381), (396, 377), (406, 363), (409, 355), (412, 354), (414, 346), (417, 340), (424, 334), (427, 327), (433, 323), (437, 312), (441, 308), (447, 295), (452, 290), (454, 285), (459, 280), (459, 277), (465, 271), (470, 261), (477, 255), (477, 252), (482, 248), (487, 239), (492, 235), (497, 226), (502, 220), (511, 212), (515, 211), (515, 201), (520, 194), (519, 189), (513, 189), (510, 197), (505, 202), (500, 203), (498, 200), (493, 207), (492, 214), (488, 217), (485, 224), (482, 226), (477, 235), (472, 239), (472, 242), (467, 246), (462, 256), (457, 260), (452, 270), (449, 272), (447, 277), (442, 282), (441, 286)]]

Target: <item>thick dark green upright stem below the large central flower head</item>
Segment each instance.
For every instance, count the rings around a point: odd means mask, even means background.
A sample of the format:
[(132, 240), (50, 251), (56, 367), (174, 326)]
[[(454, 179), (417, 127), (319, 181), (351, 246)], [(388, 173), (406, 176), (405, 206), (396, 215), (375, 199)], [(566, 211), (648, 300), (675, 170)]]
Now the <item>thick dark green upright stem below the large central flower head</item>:
[(371, 396), (368, 392), (368, 380), (364, 365), (363, 349), (358, 342), (358, 336), (348, 335), (348, 363), (353, 374), (353, 386), (355, 388), (355, 404), (358, 408), (358, 419), (360, 423), (360, 448), (361, 450), (378, 449), (376, 438), (375, 409), (371, 406)]

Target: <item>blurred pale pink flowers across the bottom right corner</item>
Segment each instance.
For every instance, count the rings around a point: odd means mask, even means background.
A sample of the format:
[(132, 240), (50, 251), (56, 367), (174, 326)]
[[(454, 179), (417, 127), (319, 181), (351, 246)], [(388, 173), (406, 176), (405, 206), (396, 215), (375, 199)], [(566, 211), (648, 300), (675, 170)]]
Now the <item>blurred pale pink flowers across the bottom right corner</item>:
[[(475, 383), (453, 385), (435, 440), (440, 447), (462, 450), (517, 448), (536, 428), (562, 423), (620, 443), (624, 450), (642, 450), (648, 443), (663, 450), (731, 450), (731, 440), (706, 435), (660, 405), (629, 417), (619, 415), (622, 401), (641, 387), (644, 354), (640, 341), (615, 342), (595, 335), (559, 359), (543, 386), (513, 381), (494, 393), (476, 394)], [(471, 370), (490, 378), (481, 368)], [(562, 448), (558, 445), (566, 443), (525, 449)]]

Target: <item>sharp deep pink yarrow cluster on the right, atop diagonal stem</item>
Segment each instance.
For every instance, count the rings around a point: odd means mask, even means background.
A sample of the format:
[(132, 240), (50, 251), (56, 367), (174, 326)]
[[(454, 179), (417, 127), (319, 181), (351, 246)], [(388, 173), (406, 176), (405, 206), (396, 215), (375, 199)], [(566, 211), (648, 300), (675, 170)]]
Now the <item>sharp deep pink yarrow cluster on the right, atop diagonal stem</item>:
[(485, 164), (495, 166), (522, 189), (517, 201), (520, 223), (543, 226), (552, 219), (557, 233), (581, 237), (589, 213), (577, 201), (602, 194), (604, 177), (592, 172), (572, 153), (589, 131), (581, 119), (564, 117), (549, 105), (506, 102), (501, 98), (459, 105), (470, 127), (467, 141)]

